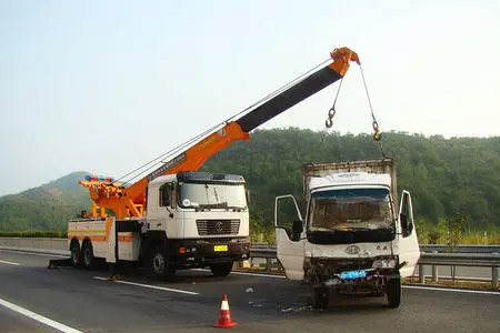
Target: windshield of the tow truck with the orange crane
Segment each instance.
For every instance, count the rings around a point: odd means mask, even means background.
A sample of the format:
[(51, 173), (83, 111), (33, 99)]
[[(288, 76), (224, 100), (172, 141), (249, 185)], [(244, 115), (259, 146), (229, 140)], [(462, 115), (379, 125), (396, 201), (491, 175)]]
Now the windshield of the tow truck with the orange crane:
[(244, 184), (180, 183), (179, 204), (183, 208), (244, 209)]

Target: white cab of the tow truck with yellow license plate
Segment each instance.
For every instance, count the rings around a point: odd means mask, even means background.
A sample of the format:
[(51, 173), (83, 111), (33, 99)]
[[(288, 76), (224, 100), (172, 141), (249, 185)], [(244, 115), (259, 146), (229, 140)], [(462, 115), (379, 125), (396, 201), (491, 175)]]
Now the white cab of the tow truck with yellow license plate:
[(161, 240), (176, 269), (226, 265), (229, 270), (234, 261), (249, 258), (247, 196), (241, 175), (159, 176), (149, 184), (143, 238)]

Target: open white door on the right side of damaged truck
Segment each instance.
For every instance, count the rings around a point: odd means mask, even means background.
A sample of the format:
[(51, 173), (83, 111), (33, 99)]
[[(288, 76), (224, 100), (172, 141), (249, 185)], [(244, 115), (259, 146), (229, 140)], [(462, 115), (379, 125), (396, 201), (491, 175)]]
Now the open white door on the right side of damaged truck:
[(411, 276), (420, 259), (419, 241), (413, 222), (411, 195), (402, 191), (398, 215), (399, 262), (404, 263), (399, 270), (401, 278)]

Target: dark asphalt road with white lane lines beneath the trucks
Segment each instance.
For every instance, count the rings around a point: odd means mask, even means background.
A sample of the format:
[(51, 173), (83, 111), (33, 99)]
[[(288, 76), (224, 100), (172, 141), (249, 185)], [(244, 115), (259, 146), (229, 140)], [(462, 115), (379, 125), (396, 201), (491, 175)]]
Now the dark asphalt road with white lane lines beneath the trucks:
[[(139, 270), (123, 282), (106, 271), (47, 270), (48, 256), (0, 251), (0, 332), (207, 332), (223, 293), (241, 332), (499, 332), (500, 293), (403, 289), (399, 309), (383, 297), (347, 297), (308, 307), (309, 287), (282, 278), (186, 271), (157, 282)], [(131, 282), (134, 284), (129, 284)], [(247, 292), (251, 287), (253, 292)], [(3, 302), (3, 303), (2, 303)], [(7, 302), (7, 303), (6, 303)], [(6, 304), (10, 304), (9, 306)], [(29, 311), (21, 314), (12, 306)], [(19, 310), (18, 310), (19, 311)]]

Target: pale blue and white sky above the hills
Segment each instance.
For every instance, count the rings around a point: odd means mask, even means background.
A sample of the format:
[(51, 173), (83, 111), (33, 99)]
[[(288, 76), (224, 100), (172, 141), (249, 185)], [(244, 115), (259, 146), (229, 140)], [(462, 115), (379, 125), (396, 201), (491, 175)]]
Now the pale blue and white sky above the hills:
[[(0, 195), (120, 176), (344, 46), (382, 131), (500, 135), (500, 1), (0, 0)], [(260, 129), (323, 130), (337, 88)], [(372, 131), (357, 65), (332, 130)]]

